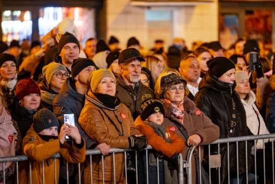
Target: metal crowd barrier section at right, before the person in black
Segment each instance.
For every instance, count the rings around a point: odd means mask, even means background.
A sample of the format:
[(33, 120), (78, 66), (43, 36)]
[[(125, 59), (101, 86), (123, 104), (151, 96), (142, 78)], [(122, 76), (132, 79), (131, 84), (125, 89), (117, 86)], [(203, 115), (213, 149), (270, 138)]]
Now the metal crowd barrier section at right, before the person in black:
[[(274, 184), (274, 151), (273, 151), (273, 148), (274, 148), (274, 144), (273, 144), (273, 141), (275, 140), (275, 133), (273, 134), (264, 134), (264, 135), (252, 135), (252, 136), (241, 136), (241, 137), (231, 137), (231, 138), (221, 138), (221, 139), (218, 139), (210, 144), (208, 144), (208, 158), (209, 158), (209, 166), (208, 166), (208, 169), (209, 169), (209, 181), (212, 181), (211, 180), (211, 168), (216, 168), (218, 169), (218, 183), (220, 183), (220, 179), (221, 179), (221, 176), (220, 176), (220, 165), (221, 165), (221, 158), (220, 158), (220, 144), (222, 143), (226, 143), (227, 144), (227, 155), (226, 155), (226, 158), (227, 158), (227, 162), (228, 162), (228, 167), (227, 167), (227, 173), (228, 173), (228, 183), (230, 183), (230, 170), (229, 170), (229, 143), (235, 143), (236, 144), (236, 155), (238, 155), (238, 143), (239, 142), (245, 142), (245, 150), (247, 150), (247, 141), (254, 141), (254, 144), (256, 143), (256, 140), (258, 141), (262, 141), (263, 142), (263, 173), (264, 173), (264, 183), (267, 182), (266, 180), (266, 177), (265, 177), (265, 172), (266, 172), (266, 169), (265, 169), (265, 151), (266, 151), (266, 147), (264, 146), (264, 139), (271, 139), (272, 141), (271, 142), (271, 157), (272, 157), (272, 160), (269, 160), (270, 162), (272, 161), (272, 176), (268, 176), (269, 178), (271, 177), (272, 178), (272, 183)], [(213, 144), (216, 144), (218, 146), (218, 152), (217, 154), (210, 154), (210, 145), (213, 145)], [(207, 146), (207, 145), (206, 145)], [(191, 157), (193, 156), (193, 151), (195, 149), (196, 146), (192, 146), (190, 147), (189, 151), (188, 151), (188, 154), (187, 154), (187, 157), (186, 157), (186, 173), (187, 173), (187, 183), (192, 183), (192, 172), (191, 170), (192, 169), (195, 169), (195, 168), (192, 168), (192, 164), (191, 164)], [(200, 147), (198, 147), (199, 149), (199, 153), (200, 153)], [(200, 154), (198, 153), (199, 155), (199, 159), (200, 159)], [(204, 152), (205, 153), (205, 152)], [(250, 155), (247, 155), (247, 151), (245, 151), (245, 168), (246, 168), (246, 173), (244, 174), (244, 177), (246, 178), (246, 183), (248, 183), (248, 171), (247, 171), (247, 158), (248, 156), (250, 157)], [(236, 157), (236, 161), (237, 161), (237, 183), (239, 183), (239, 174), (238, 174), (238, 171), (239, 171), (239, 168), (238, 168), (238, 156)], [(201, 160), (201, 159), (200, 159)], [(254, 155), (254, 169), (255, 169), (255, 175), (256, 174), (256, 153)], [(199, 171), (200, 171), (201, 168), (199, 168)], [(244, 179), (243, 177), (243, 179)], [(201, 179), (201, 178), (200, 178)], [(201, 180), (199, 180), (198, 183), (201, 183)], [(211, 183), (211, 182), (210, 182)], [(257, 178), (254, 177), (254, 183), (261, 183), (261, 181), (257, 181)], [(270, 183), (270, 180), (269, 180), (269, 183)], [(241, 183), (239, 183), (241, 184)]]

